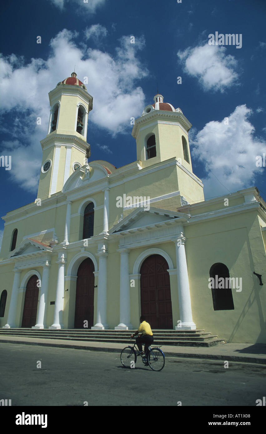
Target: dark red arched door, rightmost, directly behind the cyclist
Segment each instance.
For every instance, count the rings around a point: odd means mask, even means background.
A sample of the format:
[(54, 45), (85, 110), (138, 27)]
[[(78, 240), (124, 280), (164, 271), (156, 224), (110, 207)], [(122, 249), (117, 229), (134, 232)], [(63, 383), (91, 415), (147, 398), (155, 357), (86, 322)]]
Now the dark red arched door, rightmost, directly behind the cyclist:
[(148, 256), (141, 265), (141, 315), (151, 329), (173, 328), (168, 268), (160, 255)]

